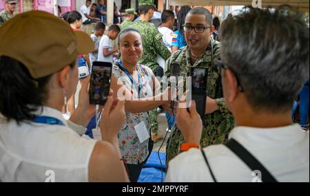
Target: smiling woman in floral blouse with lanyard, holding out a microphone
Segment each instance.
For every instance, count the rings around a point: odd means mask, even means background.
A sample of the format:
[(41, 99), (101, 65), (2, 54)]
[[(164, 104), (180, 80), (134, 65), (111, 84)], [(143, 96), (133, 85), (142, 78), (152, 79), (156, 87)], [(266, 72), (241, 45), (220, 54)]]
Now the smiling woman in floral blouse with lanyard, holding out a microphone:
[[(147, 111), (163, 105), (169, 108), (170, 90), (156, 94), (161, 89), (152, 69), (138, 64), (142, 54), (142, 39), (138, 30), (127, 28), (118, 35), (121, 58), (112, 69), (111, 88), (115, 98), (125, 98), (127, 120), (118, 133), (118, 144), (131, 182), (136, 182), (143, 164), (152, 151), (149, 139), (149, 116)], [(170, 96), (169, 96), (170, 97)]]

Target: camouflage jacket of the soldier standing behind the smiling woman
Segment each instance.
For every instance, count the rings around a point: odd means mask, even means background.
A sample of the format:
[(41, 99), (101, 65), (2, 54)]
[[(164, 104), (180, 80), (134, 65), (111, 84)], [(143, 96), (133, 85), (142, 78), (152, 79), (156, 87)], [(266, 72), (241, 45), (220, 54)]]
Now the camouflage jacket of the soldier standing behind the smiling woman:
[(156, 71), (158, 63), (156, 61), (157, 54), (159, 54), (165, 61), (169, 58), (171, 53), (163, 43), (163, 38), (158, 29), (146, 21), (136, 21), (132, 28), (135, 28), (141, 33), (143, 39), (143, 56), (138, 62)]

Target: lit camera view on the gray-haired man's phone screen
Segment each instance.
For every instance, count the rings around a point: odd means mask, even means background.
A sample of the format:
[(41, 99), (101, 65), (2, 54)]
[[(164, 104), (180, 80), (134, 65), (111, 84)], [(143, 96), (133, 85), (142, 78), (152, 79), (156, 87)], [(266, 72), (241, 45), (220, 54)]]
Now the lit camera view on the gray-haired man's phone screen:
[(194, 92), (203, 92), (206, 90), (206, 69), (192, 69), (192, 89)]

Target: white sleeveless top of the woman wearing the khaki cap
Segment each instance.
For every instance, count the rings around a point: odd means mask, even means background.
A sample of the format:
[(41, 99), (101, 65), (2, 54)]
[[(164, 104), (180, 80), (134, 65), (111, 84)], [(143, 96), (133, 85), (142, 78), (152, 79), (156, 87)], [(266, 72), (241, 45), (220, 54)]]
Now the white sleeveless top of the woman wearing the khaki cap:
[(87, 182), (96, 140), (82, 138), (67, 127), (60, 111), (43, 107), (40, 115), (61, 120), (65, 126), (0, 122), (0, 180), (45, 182), (54, 178), (55, 182)]

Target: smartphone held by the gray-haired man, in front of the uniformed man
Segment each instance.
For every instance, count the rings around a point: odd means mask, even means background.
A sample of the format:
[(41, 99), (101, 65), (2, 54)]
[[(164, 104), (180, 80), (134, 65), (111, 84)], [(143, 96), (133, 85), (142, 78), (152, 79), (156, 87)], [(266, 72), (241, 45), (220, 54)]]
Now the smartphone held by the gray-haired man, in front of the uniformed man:
[(192, 100), (196, 102), (196, 109), (201, 120), (205, 120), (205, 101), (207, 98), (207, 74), (208, 70), (204, 67), (192, 67)]

